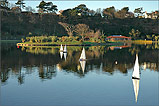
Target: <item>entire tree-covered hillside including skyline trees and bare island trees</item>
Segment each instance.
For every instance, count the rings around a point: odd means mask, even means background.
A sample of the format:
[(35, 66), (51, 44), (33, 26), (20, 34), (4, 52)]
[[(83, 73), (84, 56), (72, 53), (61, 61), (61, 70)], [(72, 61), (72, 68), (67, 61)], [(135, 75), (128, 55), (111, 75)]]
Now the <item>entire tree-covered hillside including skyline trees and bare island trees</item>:
[[(139, 31), (137, 38), (145, 39), (147, 35), (159, 34), (159, 19), (142, 18), (142, 8), (134, 13), (129, 7), (116, 10), (109, 7), (102, 11), (90, 10), (86, 5), (80, 4), (75, 8), (59, 11), (52, 2), (42, 1), (38, 6), (38, 13), (27, 8), (22, 11), (23, 0), (18, 0), (15, 7), (7, 9), (1, 4), (1, 39), (21, 39), (27, 36), (132, 36), (130, 32)], [(19, 10), (18, 10), (19, 9)], [(82, 30), (84, 25), (84, 29)], [(100, 34), (98, 33), (100, 32)]]

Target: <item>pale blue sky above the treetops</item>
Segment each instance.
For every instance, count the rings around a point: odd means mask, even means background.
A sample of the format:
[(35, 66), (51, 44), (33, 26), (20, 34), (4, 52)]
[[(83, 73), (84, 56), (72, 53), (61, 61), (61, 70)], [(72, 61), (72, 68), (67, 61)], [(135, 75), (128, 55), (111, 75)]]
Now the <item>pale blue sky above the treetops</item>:
[[(9, 0), (10, 3), (15, 3), (17, 0)], [(37, 10), (36, 6), (39, 5), (41, 0), (24, 0), (24, 3), (26, 3), (26, 6), (31, 6), (34, 9)], [(48, 2), (48, 1), (45, 1)], [(129, 7), (129, 11), (133, 12), (135, 8), (143, 7), (143, 11), (152, 12), (155, 10), (159, 10), (159, 1), (157, 0), (150, 0), (150, 1), (110, 1), (110, 0), (102, 0), (102, 1), (72, 1), (72, 0), (51, 0), (53, 4), (57, 5), (58, 11), (59, 10), (65, 10), (68, 8), (74, 8), (78, 6), (79, 4), (85, 4), (89, 9), (96, 10), (97, 8), (108, 8), (111, 6), (114, 6), (115, 9), (120, 10), (123, 7)]]

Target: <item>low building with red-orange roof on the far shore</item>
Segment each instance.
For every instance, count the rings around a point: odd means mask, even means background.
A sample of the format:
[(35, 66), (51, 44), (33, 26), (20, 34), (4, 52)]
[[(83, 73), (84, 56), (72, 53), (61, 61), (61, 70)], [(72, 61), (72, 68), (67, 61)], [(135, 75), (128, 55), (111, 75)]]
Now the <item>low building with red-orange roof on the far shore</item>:
[(112, 36), (108, 36), (106, 40), (107, 41), (125, 41), (125, 40), (131, 40), (131, 37), (126, 37), (122, 35), (112, 35)]

